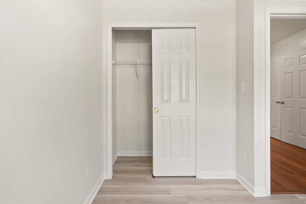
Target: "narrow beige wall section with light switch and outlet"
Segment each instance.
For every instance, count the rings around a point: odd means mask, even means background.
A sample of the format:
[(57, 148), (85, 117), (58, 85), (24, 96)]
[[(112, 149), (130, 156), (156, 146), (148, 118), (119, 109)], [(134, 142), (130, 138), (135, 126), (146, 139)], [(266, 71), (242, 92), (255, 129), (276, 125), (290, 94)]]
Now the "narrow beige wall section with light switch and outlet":
[[(254, 1), (236, 2), (237, 173), (254, 185)], [(245, 91), (240, 83), (245, 82)], [(241, 158), (245, 152), (245, 162)]]

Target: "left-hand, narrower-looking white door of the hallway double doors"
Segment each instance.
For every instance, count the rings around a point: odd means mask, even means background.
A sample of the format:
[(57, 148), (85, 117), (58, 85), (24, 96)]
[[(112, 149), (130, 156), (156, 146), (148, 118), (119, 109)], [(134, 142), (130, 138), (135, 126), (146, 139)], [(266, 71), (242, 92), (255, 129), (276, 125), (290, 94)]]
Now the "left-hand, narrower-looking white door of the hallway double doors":
[(271, 137), (281, 140), (280, 131), (280, 57), (270, 60), (270, 134)]

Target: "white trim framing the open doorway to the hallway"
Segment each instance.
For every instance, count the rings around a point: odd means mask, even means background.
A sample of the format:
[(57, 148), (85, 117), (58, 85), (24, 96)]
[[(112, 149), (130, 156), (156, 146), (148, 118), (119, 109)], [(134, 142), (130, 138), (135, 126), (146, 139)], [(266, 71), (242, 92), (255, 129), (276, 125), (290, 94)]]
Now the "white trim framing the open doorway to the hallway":
[[(255, 196), (271, 195), (270, 174), (270, 18), (304, 16), (306, 7), (266, 7), (265, 49), (265, 187), (255, 188)], [(254, 178), (255, 180), (258, 178)], [(263, 193), (265, 191), (265, 193)]]

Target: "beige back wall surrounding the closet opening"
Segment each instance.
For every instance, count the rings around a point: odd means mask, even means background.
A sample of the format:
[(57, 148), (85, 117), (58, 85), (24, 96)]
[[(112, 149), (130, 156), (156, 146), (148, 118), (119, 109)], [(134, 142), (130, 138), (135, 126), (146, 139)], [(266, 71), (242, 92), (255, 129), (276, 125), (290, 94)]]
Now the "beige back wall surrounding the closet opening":
[[(203, 176), (209, 173), (236, 171), (235, 10), (235, 1), (103, 2), (104, 28), (108, 22), (201, 24), (199, 83)], [(105, 29), (103, 38), (103, 72), (106, 73)], [(106, 75), (103, 76), (106, 80)], [(106, 94), (107, 89), (104, 86), (104, 107)], [(106, 122), (106, 115), (104, 119)]]

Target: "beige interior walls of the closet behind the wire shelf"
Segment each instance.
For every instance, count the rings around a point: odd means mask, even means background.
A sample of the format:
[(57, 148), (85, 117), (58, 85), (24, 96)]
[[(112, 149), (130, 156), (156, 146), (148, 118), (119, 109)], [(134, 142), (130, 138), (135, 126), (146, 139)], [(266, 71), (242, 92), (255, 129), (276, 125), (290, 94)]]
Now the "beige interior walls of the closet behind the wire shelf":
[[(152, 60), (151, 30), (113, 30), (112, 60)], [(152, 65), (113, 65), (112, 143), (116, 156), (152, 155)]]

